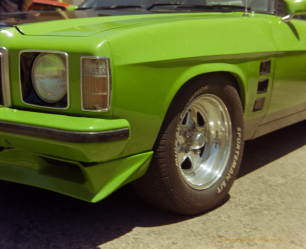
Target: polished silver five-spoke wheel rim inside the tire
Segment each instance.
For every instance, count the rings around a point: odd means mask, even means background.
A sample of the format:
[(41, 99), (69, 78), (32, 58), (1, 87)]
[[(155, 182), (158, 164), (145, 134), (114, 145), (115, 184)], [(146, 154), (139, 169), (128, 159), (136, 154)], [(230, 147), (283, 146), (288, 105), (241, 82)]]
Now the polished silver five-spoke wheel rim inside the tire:
[(193, 99), (181, 115), (176, 135), (177, 166), (194, 189), (214, 184), (226, 167), (232, 146), (230, 114), (213, 94)]

